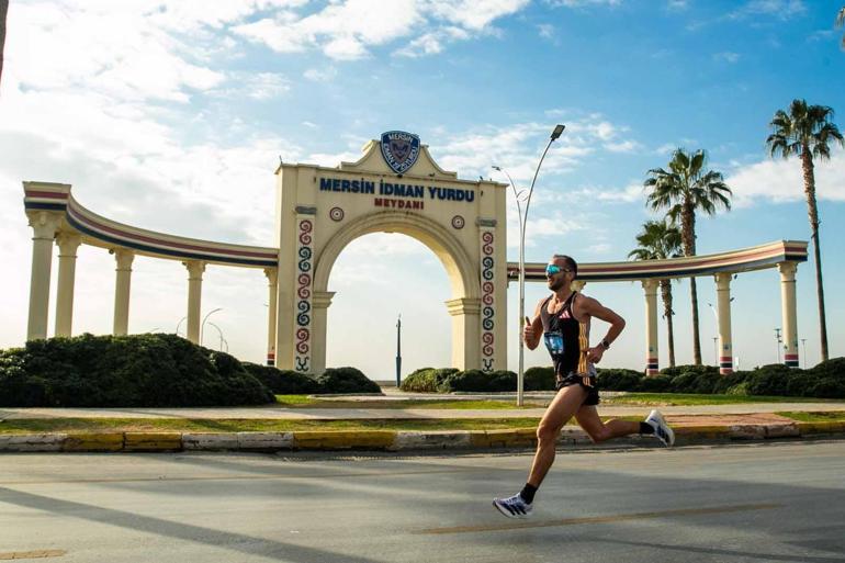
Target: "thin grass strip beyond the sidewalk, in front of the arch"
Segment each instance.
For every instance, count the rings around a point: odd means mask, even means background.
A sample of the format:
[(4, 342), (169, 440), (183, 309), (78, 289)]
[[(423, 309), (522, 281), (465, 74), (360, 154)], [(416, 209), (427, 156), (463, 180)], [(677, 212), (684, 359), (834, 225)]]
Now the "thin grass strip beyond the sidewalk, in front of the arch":
[(549, 403), (531, 402), (523, 403), (518, 407), (516, 402), (497, 399), (428, 399), (428, 398), (407, 398), (407, 399), (367, 399), (361, 401), (330, 401), (308, 397), (307, 395), (277, 395), (279, 404), (290, 408), (443, 408), (457, 410), (505, 410), (514, 408), (543, 408)]

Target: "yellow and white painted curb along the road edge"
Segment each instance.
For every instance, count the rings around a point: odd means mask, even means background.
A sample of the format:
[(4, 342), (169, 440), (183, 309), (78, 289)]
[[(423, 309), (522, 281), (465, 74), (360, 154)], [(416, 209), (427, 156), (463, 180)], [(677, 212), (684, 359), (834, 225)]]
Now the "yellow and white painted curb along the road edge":
[[(176, 452), (284, 450), (467, 450), (533, 448), (533, 428), (510, 430), (307, 430), (301, 432), (70, 432), (0, 435), (2, 452)], [(678, 446), (845, 435), (845, 421), (675, 428)], [(641, 443), (631, 437), (629, 443)], [(564, 427), (561, 446), (593, 443), (578, 427)]]

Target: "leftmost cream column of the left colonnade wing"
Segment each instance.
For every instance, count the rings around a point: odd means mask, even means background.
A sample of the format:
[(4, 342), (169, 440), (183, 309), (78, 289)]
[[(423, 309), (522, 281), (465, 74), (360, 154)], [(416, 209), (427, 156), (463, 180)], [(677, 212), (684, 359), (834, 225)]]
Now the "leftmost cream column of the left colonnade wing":
[(46, 211), (30, 212), (32, 237), (32, 273), (30, 278), (30, 318), (26, 339), (47, 338), (49, 314), (49, 271), (53, 261), (53, 239), (60, 223), (60, 215)]

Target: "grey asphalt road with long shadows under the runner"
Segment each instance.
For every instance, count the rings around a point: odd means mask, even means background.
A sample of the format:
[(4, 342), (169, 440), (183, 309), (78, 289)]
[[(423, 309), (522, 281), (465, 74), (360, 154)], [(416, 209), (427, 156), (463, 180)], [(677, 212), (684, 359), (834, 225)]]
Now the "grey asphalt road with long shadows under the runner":
[(845, 561), (845, 441), (523, 454), (4, 454), (0, 560)]

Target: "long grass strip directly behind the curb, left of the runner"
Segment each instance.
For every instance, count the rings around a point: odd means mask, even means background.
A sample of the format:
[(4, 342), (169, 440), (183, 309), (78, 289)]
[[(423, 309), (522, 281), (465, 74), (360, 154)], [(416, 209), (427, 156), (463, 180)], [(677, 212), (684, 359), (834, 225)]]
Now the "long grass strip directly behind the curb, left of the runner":
[(0, 423), (0, 435), (35, 432), (290, 432), (298, 430), (495, 430), (533, 428), (539, 418), (471, 419), (200, 419), (200, 418), (15, 418)]

